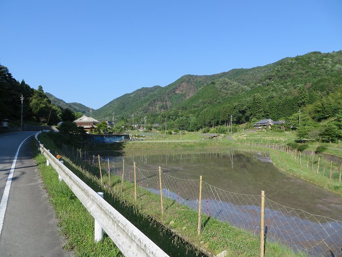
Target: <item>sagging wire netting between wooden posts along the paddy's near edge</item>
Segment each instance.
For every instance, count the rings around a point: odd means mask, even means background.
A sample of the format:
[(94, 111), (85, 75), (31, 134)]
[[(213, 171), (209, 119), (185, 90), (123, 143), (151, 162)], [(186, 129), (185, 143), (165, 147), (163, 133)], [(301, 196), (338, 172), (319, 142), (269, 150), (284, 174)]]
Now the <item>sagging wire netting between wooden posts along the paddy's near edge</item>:
[[(285, 150), (283, 150), (285, 151)], [(115, 162), (117, 158), (86, 156), (85, 161), (93, 165), (100, 164), (109, 169), (110, 174), (134, 183), (134, 166), (124, 162)], [(300, 160), (300, 159), (299, 159)], [(307, 157), (304, 157), (307, 164)], [(296, 160), (297, 161), (297, 160)], [(329, 167), (330, 168), (330, 167)], [(171, 170), (162, 170), (162, 188), (159, 188), (159, 170), (147, 170), (135, 167), (136, 185), (140, 188), (160, 194), (184, 204), (194, 210), (199, 206), (199, 180), (182, 179), (170, 175)], [(325, 174), (324, 174), (325, 175)], [(260, 195), (240, 194), (214, 187), (202, 181), (201, 212), (207, 217), (229, 222), (259, 235), (260, 233)], [(295, 251), (308, 256), (342, 257), (342, 221), (325, 216), (315, 215), (304, 210), (280, 205), (265, 197), (265, 238), (267, 241), (281, 242)]]

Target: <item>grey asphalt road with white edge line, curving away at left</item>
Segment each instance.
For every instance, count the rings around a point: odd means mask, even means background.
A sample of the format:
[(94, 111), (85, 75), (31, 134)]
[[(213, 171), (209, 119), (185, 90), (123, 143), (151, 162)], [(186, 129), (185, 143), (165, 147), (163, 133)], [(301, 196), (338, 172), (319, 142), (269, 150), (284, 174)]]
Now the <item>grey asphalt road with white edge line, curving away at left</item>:
[[(25, 140), (33, 134), (16, 132), (0, 135), (0, 256), (70, 257), (73, 253), (62, 249), (64, 242), (58, 232), (55, 211), (48, 202), (37, 166), (32, 160), (33, 136)], [(7, 195), (4, 192), (8, 191), (6, 182), (23, 140), (10, 179), (12, 183), (4, 212), (3, 201)], [(3, 225), (1, 212), (4, 212)]]

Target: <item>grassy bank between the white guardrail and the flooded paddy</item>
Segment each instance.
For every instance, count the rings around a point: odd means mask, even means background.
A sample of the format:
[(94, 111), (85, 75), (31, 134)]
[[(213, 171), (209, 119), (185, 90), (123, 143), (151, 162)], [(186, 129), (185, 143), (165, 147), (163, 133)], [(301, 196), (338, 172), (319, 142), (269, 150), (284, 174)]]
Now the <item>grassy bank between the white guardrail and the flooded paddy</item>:
[[(51, 152), (59, 150), (47, 135), (41, 135), (40, 140)], [(197, 212), (187, 206), (178, 205), (175, 201), (164, 198), (164, 213), (160, 211), (160, 196), (139, 188), (138, 199), (134, 201), (134, 187), (124, 182), (121, 191), (121, 178), (104, 176), (103, 184), (99, 178), (80, 165), (65, 158), (64, 163), (94, 190), (105, 192), (105, 199), (115, 209), (119, 210), (144, 234), (147, 234), (156, 244), (171, 256), (195, 256), (196, 250), (190, 251), (192, 245), (201, 249), (202, 253), (218, 254), (228, 251), (227, 256), (259, 256), (259, 237), (246, 231), (234, 228), (228, 223), (202, 215), (202, 233), (197, 235)], [(82, 164), (86, 166), (86, 164)], [(94, 171), (98, 173), (98, 171)], [(57, 177), (57, 175), (56, 175)], [(267, 242), (266, 255), (272, 257), (305, 256), (294, 254), (292, 250), (277, 243)], [(199, 254), (202, 256), (202, 254)]]

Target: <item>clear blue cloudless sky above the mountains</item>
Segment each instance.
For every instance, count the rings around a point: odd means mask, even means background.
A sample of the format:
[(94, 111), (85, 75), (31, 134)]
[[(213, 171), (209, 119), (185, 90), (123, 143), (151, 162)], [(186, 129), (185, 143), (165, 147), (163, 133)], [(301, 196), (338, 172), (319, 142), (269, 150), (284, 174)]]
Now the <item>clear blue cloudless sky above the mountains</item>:
[(0, 63), (93, 109), (185, 74), (342, 49), (341, 0), (0, 0)]

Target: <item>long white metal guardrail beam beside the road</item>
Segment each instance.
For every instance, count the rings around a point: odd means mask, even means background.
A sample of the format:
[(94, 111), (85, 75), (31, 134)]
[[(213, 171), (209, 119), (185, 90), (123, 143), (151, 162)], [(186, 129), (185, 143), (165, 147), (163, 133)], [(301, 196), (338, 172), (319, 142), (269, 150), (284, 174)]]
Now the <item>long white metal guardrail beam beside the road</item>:
[(115, 245), (126, 257), (169, 257), (150, 238), (138, 230), (123, 215), (109, 205), (100, 195), (86, 185), (70, 169), (62, 164), (38, 141), (41, 153), (54, 167), (94, 219), (106, 231)]

